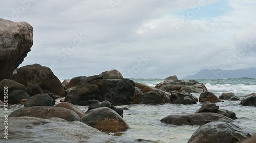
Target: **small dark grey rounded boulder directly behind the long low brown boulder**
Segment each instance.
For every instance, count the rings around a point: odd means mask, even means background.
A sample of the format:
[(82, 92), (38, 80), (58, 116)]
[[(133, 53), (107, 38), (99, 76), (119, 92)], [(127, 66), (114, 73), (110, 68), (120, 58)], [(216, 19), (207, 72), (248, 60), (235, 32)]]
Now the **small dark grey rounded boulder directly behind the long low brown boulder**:
[(30, 97), (24, 104), (25, 107), (32, 106), (53, 106), (55, 100), (53, 100), (48, 94), (37, 94)]

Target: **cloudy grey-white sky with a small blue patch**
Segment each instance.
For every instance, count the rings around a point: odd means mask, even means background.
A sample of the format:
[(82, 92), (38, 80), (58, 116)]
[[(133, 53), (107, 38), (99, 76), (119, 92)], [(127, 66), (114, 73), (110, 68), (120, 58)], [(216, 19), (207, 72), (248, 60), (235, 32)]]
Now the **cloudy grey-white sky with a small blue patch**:
[(117, 69), (125, 78), (178, 78), (256, 67), (254, 0), (3, 1), (0, 18), (33, 26), (19, 66), (60, 79)]

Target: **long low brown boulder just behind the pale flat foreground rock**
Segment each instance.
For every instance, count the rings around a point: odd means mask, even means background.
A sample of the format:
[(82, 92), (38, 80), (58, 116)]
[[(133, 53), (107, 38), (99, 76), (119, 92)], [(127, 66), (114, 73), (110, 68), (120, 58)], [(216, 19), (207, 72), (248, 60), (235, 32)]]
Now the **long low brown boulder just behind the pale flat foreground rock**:
[(36, 117), (49, 119), (53, 117), (65, 119), (67, 121), (80, 121), (77, 113), (70, 109), (50, 106), (23, 107), (13, 111), (8, 117)]

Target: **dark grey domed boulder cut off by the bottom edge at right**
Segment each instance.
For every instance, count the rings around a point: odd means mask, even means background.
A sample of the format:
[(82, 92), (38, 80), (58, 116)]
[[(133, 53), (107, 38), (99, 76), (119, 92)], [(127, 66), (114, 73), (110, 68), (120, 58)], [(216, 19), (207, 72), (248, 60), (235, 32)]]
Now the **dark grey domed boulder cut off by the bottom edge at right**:
[(250, 133), (227, 122), (210, 122), (199, 127), (188, 140), (188, 143), (238, 143), (250, 137)]

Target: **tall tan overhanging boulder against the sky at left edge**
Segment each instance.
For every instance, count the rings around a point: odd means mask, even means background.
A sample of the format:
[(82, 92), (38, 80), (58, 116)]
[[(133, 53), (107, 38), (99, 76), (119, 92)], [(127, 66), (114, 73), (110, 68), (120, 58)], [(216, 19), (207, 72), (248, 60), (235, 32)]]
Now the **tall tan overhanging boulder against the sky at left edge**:
[(12, 75), (33, 45), (33, 27), (27, 22), (0, 18), (0, 81)]

